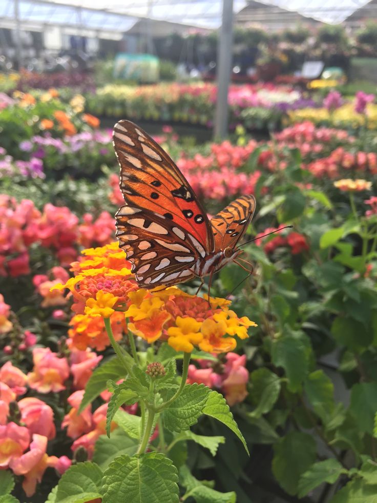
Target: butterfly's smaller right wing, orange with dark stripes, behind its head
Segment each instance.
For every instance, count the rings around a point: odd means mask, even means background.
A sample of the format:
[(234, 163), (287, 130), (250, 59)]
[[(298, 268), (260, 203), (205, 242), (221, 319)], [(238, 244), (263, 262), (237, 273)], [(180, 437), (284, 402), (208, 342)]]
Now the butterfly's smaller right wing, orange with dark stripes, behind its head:
[(244, 195), (211, 218), (216, 250), (237, 245), (252, 221), (254, 211), (254, 196)]

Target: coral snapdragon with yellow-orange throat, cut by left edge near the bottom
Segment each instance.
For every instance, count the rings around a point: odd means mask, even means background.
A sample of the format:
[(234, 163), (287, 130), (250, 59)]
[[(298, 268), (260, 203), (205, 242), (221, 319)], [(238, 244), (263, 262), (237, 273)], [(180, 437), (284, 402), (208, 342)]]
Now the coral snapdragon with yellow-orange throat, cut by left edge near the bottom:
[(30, 444), (30, 433), (25, 426), (9, 422), (0, 426), (0, 468), (13, 468), (13, 464)]

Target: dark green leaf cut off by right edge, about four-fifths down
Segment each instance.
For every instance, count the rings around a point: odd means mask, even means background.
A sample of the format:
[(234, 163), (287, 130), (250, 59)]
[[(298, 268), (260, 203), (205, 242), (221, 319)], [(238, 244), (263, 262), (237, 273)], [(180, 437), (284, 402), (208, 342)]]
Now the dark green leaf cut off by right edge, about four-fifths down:
[(349, 411), (360, 431), (373, 435), (374, 415), (377, 411), (377, 383), (354, 384)]

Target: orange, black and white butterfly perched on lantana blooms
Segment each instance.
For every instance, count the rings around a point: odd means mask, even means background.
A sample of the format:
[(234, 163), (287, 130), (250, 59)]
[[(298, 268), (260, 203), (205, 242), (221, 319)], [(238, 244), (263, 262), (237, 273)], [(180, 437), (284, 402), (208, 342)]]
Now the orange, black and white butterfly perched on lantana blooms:
[(139, 126), (118, 122), (113, 145), (126, 203), (115, 215), (116, 236), (140, 288), (194, 277), (203, 284), (204, 276), (211, 280), (236, 261), (242, 252), (237, 244), (254, 215), (253, 195), (238, 197), (209, 220), (173, 160)]

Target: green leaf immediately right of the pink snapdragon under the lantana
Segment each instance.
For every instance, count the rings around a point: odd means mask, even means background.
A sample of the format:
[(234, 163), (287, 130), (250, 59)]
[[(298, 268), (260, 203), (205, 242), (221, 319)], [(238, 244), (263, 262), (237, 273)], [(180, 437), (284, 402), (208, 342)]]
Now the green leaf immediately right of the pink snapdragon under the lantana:
[(274, 407), (280, 393), (280, 379), (274, 372), (262, 368), (252, 372), (250, 382), (252, 389), (249, 396), (256, 405), (250, 415), (260, 417)]

